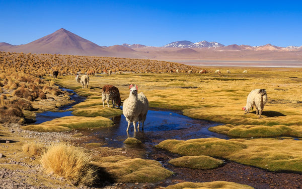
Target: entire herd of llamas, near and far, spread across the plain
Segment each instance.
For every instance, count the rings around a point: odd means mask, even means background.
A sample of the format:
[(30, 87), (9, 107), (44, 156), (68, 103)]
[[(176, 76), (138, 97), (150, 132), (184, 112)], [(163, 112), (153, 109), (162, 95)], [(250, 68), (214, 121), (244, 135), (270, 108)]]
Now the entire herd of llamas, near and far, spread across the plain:
[[(105, 71), (104, 71), (105, 72)], [(188, 72), (189, 73), (189, 72)], [(205, 70), (201, 70), (199, 73), (206, 73)], [(216, 70), (215, 73), (220, 74), (220, 70)], [(231, 73), (229, 70), (226, 71), (226, 73)], [(244, 71), (243, 73), (247, 73)], [(90, 75), (94, 75), (95, 73), (90, 73)], [(105, 72), (105, 74), (108, 74)], [(111, 74), (111, 73), (110, 73)], [(54, 77), (57, 77), (58, 72), (53, 72)], [(75, 81), (81, 83), (82, 88), (85, 89), (88, 88), (89, 85), (89, 76), (83, 75), (80, 77), (79, 74), (75, 76)], [(139, 131), (139, 127), (141, 125), (141, 128), (143, 130), (144, 121), (146, 119), (146, 115), (148, 112), (149, 102), (146, 98), (146, 96), (140, 92), (137, 93), (138, 87), (137, 85), (131, 84), (129, 87), (129, 97), (124, 100), (123, 102), (123, 115), (125, 116), (128, 125), (126, 132), (128, 133), (129, 126), (132, 123), (134, 127), (134, 132), (136, 132), (136, 123), (137, 124), (137, 130)], [(113, 85), (104, 85), (102, 88), (102, 102), (103, 107), (105, 107), (105, 101), (107, 103), (107, 106), (109, 106), (109, 101), (112, 101), (112, 108), (118, 106), (120, 108), (122, 101), (120, 97), (120, 92), (117, 87)], [(245, 111), (244, 114), (247, 114), (250, 112), (251, 109), (256, 108), (256, 115), (258, 115), (258, 118), (261, 118), (262, 111), (264, 109), (264, 106), (267, 102), (267, 93), (265, 89), (254, 89), (251, 91), (247, 97), (247, 103), (246, 106), (244, 106), (242, 109)]]

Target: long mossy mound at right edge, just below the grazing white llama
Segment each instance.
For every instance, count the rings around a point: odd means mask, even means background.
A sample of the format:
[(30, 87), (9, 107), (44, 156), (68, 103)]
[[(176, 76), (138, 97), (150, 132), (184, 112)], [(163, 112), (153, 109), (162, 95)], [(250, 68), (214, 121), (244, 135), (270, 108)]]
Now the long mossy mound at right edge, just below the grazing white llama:
[(221, 133), (232, 137), (275, 137), (275, 136), (293, 136), (302, 137), (302, 128), (295, 125), (233, 125), (225, 124), (209, 128), (209, 131)]

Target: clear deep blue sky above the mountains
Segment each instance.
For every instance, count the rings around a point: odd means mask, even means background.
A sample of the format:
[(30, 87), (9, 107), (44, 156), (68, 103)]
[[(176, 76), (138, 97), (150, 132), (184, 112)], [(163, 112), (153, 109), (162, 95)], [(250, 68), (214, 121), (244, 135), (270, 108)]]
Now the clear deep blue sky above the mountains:
[(26, 44), (64, 28), (100, 46), (302, 45), (302, 1), (0, 0), (0, 42)]

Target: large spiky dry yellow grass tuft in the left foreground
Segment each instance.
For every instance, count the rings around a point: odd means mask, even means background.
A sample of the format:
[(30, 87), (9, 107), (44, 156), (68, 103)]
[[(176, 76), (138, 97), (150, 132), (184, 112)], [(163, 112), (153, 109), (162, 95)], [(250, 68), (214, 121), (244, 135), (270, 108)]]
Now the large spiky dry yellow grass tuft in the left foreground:
[(41, 164), (47, 172), (63, 176), (73, 185), (94, 183), (97, 169), (90, 161), (86, 152), (66, 144), (50, 146), (41, 157)]

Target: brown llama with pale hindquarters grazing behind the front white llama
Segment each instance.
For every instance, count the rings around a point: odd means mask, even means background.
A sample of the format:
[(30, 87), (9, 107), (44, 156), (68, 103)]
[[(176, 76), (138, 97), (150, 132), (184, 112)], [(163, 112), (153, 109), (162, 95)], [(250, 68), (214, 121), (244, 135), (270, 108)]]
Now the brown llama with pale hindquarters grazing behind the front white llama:
[(105, 107), (104, 104), (105, 100), (107, 102), (108, 107), (109, 107), (109, 100), (112, 100), (112, 108), (114, 108), (115, 104), (119, 108), (122, 103), (121, 103), (121, 97), (118, 88), (113, 85), (104, 85), (102, 91), (103, 107)]

